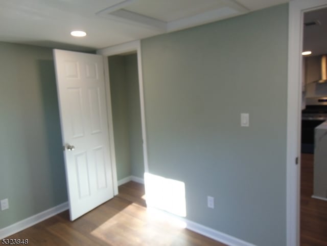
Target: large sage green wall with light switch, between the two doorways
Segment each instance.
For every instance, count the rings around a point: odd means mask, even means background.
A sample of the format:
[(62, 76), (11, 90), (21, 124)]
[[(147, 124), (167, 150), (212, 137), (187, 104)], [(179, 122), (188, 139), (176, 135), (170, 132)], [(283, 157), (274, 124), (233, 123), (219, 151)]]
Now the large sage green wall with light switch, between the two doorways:
[(287, 47), (288, 5), (142, 40), (150, 172), (185, 183), (188, 219), (258, 246), (286, 245)]

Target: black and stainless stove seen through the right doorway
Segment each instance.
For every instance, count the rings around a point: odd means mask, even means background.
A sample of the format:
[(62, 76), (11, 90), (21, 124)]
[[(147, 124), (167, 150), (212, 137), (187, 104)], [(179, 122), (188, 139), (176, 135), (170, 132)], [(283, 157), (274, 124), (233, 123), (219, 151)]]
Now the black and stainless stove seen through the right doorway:
[(306, 98), (302, 110), (301, 152), (314, 152), (315, 127), (327, 120), (327, 97)]

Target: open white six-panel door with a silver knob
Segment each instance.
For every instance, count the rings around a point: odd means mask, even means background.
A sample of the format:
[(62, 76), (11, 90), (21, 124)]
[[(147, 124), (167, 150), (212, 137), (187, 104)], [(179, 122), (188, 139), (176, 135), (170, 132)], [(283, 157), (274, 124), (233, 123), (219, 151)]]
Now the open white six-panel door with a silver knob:
[(101, 55), (54, 50), (71, 220), (113, 197)]

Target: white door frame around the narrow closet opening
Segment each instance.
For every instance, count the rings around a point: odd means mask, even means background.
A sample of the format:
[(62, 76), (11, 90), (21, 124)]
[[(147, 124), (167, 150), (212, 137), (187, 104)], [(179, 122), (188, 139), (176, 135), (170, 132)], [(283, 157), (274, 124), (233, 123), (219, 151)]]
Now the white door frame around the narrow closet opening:
[[(128, 52), (136, 51), (137, 53), (137, 69), (138, 69), (138, 84), (139, 84), (139, 100), (141, 105), (141, 123), (142, 123), (142, 138), (143, 138), (143, 156), (144, 156), (144, 171), (149, 171), (148, 166), (148, 151), (147, 151), (147, 135), (146, 135), (146, 122), (145, 122), (145, 107), (144, 107), (144, 91), (143, 91), (143, 74), (142, 74), (142, 57), (141, 57), (141, 41), (131, 41), (123, 44), (118, 44), (116, 46), (111, 46), (108, 48), (104, 48), (101, 50), (97, 50), (97, 54), (104, 56), (104, 66), (108, 68), (108, 56), (124, 54)], [(112, 128), (112, 112), (111, 112), (111, 96), (110, 96), (110, 83), (109, 83), (109, 71), (106, 70), (105, 79), (106, 79), (106, 87), (107, 87), (107, 98), (108, 98), (108, 110), (110, 110), (109, 119), (109, 132), (110, 136), (113, 136), (113, 128)], [(113, 138), (110, 140), (110, 145), (113, 144)], [(113, 151), (114, 152), (114, 151)], [(112, 169), (113, 172), (116, 173), (116, 161), (115, 158), (112, 160)], [(117, 175), (113, 179), (113, 186), (114, 186), (114, 194), (118, 194), (118, 182), (117, 182)]]

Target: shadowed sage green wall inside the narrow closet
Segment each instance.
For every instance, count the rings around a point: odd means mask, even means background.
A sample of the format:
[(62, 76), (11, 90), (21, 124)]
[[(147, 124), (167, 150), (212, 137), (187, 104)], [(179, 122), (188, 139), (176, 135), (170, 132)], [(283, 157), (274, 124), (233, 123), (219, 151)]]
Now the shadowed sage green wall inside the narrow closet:
[(118, 180), (143, 178), (141, 108), (136, 54), (108, 58)]

